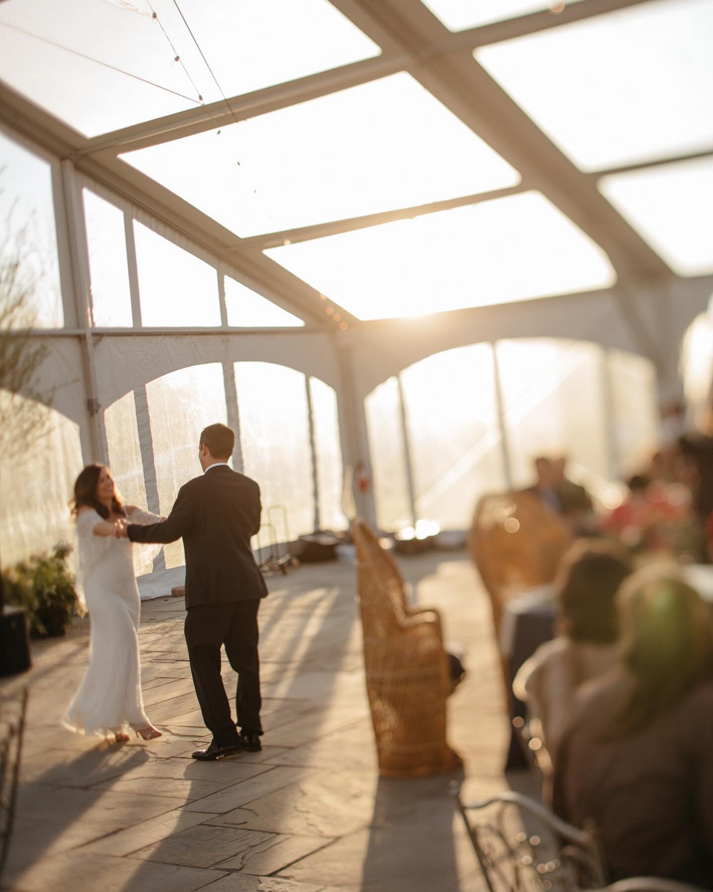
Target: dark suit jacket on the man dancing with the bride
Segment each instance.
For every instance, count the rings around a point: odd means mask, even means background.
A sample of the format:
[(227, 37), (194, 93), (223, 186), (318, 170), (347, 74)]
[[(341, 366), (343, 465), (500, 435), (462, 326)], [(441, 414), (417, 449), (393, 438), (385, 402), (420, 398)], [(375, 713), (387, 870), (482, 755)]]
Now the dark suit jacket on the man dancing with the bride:
[(250, 548), (260, 526), (260, 488), (227, 465), (211, 467), (178, 491), (160, 524), (130, 524), (132, 542), (185, 549), (185, 607), (264, 598), (267, 586)]

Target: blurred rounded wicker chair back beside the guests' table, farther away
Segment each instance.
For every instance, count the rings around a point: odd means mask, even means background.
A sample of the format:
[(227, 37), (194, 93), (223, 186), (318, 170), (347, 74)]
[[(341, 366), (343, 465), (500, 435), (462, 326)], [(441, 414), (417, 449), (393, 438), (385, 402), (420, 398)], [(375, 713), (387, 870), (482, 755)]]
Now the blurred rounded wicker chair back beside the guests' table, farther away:
[(468, 545), (490, 596), (498, 640), (507, 601), (552, 582), (572, 538), (569, 526), (534, 492), (488, 495), (479, 500)]

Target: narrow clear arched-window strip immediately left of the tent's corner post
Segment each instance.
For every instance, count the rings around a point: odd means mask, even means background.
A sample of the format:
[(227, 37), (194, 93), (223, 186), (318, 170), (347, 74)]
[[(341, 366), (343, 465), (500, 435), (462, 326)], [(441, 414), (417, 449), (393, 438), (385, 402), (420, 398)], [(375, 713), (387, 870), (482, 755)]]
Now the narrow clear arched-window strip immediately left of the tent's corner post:
[(346, 530), (349, 524), (341, 508), (344, 474), (337, 394), (319, 378), (310, 378), (309, 395), (315, 433), (319, 525), (323, 530)]

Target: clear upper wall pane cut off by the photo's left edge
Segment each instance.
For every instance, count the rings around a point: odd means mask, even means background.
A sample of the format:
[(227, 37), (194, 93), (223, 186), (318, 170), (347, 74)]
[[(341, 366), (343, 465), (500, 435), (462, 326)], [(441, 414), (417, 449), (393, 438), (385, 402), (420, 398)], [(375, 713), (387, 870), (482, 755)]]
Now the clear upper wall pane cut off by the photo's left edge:
[(0, 130), (0, 262), (18, 264), (15, 293), (25, 293), (21, 326), (61, 328), (60, 266), (54, 227), (52, 166)]

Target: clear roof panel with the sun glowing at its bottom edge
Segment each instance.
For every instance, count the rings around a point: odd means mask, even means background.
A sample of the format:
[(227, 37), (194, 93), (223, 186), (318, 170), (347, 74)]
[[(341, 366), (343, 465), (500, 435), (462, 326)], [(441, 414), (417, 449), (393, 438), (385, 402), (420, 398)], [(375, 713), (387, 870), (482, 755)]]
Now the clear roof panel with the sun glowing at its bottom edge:
[(536, 192), (265, 253), (360, 319), (522, 301), (615, 280), (602, 249)]

